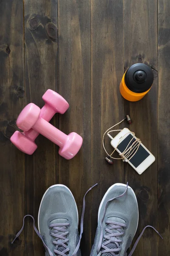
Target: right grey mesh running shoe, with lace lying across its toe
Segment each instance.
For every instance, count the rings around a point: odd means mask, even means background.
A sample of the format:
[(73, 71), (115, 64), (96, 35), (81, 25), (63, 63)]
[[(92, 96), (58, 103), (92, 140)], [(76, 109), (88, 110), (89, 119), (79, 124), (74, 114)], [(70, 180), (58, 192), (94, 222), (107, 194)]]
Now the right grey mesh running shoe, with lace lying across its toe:
[[(132, 239), (136, 233), (138, 226), (138, 204), (133, 190), (128, 186), (125, 195), (121, 198), (116, 198), (108, 202), (111, 198), (122, 195), (126, 190), (126, 185), (116, 183), (111, 186), (104, 196), (104, 201), (101, 202), (98, 214), (98, 227), (94, 240), (94, 245), (90, 256), (126, 256), (127, 249), (130, 247)], [(104, 210), (106, 204), (105, 216)], [(102, 228), (100, 226), (101, 220)], [(97, 247), (100, 241), (100, 235), (103, 232), (102, 245), (99, 252)], [(117, 234), (115, 236), (115, 234)], [(105, 237), (111, 236), (110, 239)], [(114, 242), (119, 241), (119, 242)], [(114, 252), (104, 252), (108, 249), (115, 249)], [(117, 251), (116, 251), (117, 250)]]

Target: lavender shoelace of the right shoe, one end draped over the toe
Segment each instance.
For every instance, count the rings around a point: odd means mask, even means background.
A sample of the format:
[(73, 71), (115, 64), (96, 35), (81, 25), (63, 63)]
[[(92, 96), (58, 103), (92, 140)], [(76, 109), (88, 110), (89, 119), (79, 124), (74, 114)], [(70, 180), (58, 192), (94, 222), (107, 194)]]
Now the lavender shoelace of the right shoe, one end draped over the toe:
[[(122, 223), (118, 223), (118, 222), (114, 222), (114, 221), (106, 221), (106, 224), (110, 224), (110, 227), (109, 228), (106, 228), (105, 231), (107, 231), (108, 233), (110, 233), (110, 235), (107, 235), (107, 236), (104, 236), (104, 239), (107, 240), (105, 241), (103, 244), (102, 244), (102, 241), (103, 241), (103, 229), (102, 229), (102, 224), (103, 224), (103, 220), (105, 218), (105, 213), (106, 213), (106, 210), (107, 210), (107, 207), (108, 207), (108, 204), (109, 202), (117, 199), (117, 198), (122, 198), (126, 192), (127, 192), (127, 188), (128, 188), (128, 182), (127, 182), (127, 186), (126, 186), (126, 189), (125, 189), (125, 192), (122, 193), (122, 195), (119, 195), (119, 196), (116, 196), (115, 198), (111, 198), (110, 200), (108, 200), (106, 202), (106, 205), (105, 205), (105, 209), (104, 209), (104, 212), (103, 212), (103, 216), (102, 216), (102, 219), (100, 221), (100, 226), (101, 226), (101, 235), (100, 235), (100, 239), (99, 239), (99, 244), (98, 244), (98, 247), (97, 247), (97, 253), (98, 255), (97, 256), (102, 256), (102, 254), (104, 253), (111, 253), (113, 256), (116, 256), (115, 253), (119, 253), (119, 251), (121, 250), (119, 247), (119, 243), (122, 242), (121, 239), (118, 239), (117, 237), (118, 236), (123, 236), (124, 235), (124, 232), (121, 230), (122, 228), (126, 228), (126, 225), (125, 224), (122, 224)], [(161, 237), (161, 239), (163, 239), (163, 237), (159, 234), (159, 232), (152, 226), (146, 226), (144, 227), (142, 233), (140, 234), (140, 236), (138, 237), (138, 239), (136, 240), (135, 244), (133, 245), (133, 248), (132, 250), (130, 251), (130, 253), (128, 254), (128, 256), (132, 256), (134, 250), (136, 249), (136, 246), (139, 242), (139, 240), (141, 239), (143, 233), (144, 233), (144, 230), (147, 228), (147, 227), (151, 227), (153, 228), (153, 230), (155, 230), (155, 232)], [(113, 233), (112, 230), (116, 229), (117, 231), (119, 231), (119, 233)], [(118, 248), (115, 248), (115, 249), (109, 249), (108, 247), (106, 247), (107, 244), (109, 243), (115, 243), (116, 246)], [(101, 249), (104, 249), (101, 251)], [(126, 254), (127, 256), (127, 254)]]

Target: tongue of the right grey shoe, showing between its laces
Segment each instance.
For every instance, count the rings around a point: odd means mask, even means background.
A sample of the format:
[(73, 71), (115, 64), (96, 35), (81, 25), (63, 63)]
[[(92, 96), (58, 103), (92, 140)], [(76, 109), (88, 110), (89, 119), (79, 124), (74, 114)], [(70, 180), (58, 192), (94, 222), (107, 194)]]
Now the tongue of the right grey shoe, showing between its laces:
[[(122, 223), (122, 224), (125, 224), (126, 222), (122, 219), (122, 218), (118, 218), (118, 217), (109, 217), (108, 218), (108, 221), (114, 221), (114, 222), (119, 222), (119, 223)], [(108, 225), (108, 227), (110, 227)], [(124, 230), (123, 228), (121, 228), (120, 230)], [(112, 230), (113, 233), (119, 233), (118, 230), (114, 229)], [(109, 233), (106, 233), (106, 235), (108, 235)], [(121, 236), (117, 236), (117, 239), (121, 239)], [(105, 241), (104, 241), (105, 242)], [(116, 249), (118, 248), (117, 245), (115, 243), (109, 243), (107, 245), (105, 245), (106, 247), (108, 247), (108, 249)], [(102, 249), (104, 250), (104, 249)], [(101, 251), (102, 251), (101, 250)], [(115, 255), (118, 255), (119, 252), (115, 252)], [(103, 256), (113, 256), (111, 253), (103, 253)]]

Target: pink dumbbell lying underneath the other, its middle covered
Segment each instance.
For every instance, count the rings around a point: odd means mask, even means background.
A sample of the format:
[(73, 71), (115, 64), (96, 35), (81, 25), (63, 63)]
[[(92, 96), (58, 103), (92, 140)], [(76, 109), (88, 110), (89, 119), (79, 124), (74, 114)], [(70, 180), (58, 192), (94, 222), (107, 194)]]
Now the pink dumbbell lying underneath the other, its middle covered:
[[(44, 100), (45, 105), (41, 109), (40, 117), (48, 122), (55, 113), (63, 114), (69, 108), (68, 102), (53, 90), (48, 89), (42, 96), (42, 99)], [(37, 145), (34, 143), (34, 140), (38, 135), (39, 133), (33, 129), (24, 132), (15, 131), (10, 140), (24, 153), (33, 154), (37, 149)]]

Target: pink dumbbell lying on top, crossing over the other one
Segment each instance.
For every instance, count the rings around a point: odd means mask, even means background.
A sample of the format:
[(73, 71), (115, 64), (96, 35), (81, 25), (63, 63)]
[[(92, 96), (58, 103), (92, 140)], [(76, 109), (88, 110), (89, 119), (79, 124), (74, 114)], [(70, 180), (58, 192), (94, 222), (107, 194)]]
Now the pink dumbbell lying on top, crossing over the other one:
[(55, 128), (45, 119), (40, 117), (40, 108), (34, 103), (28, 104), (17, 119), (17, 126), (23, 130), (28, 131), (31, 128), (48, 138), (59, 148), (59, 154), (66, 159), (74, 157), (82, 145), (82, 137), (79, 134), (72, 132), (71, 134), (64, 134), (59, 129)]

